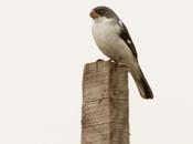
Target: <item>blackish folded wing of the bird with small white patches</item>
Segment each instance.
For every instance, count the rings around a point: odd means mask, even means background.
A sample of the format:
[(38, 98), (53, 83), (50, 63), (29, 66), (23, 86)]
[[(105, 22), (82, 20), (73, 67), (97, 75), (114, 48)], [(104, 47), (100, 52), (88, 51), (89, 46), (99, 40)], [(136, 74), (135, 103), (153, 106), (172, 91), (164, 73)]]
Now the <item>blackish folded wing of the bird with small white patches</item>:
[(136, 56), (136, 60), (138, 60), (138, 53), (136, 51), (136, 47), (132, 42), (132, 39), (131, 39), (126, 25), (121, 21), (118, 21), (118, 24), (121, 28), (120, 33), (119, 33), (120, 38), (126, 42), (128, 48), (131, 50), (132, 54)]

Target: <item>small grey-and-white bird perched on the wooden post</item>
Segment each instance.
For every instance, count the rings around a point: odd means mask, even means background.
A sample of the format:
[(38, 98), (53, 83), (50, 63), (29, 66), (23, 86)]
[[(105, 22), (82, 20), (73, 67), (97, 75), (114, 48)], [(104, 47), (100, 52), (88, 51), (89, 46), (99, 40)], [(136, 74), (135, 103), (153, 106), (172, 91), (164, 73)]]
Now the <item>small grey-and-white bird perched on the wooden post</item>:
[(118, 64), (128, 66), (142, 99), (153, 99), (152, 90), (138, 62), (132, 39), (119, 17), (106, 6), (92, 9), (92, 33), (99, 50)]

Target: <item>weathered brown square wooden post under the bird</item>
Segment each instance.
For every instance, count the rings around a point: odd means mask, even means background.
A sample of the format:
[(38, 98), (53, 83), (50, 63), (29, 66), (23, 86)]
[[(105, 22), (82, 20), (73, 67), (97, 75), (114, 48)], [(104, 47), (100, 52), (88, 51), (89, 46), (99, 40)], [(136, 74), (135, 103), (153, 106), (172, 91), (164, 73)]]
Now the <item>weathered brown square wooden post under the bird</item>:
[(129, 144), (128, 71), (110, 61), (85, 65), (82, 144)]

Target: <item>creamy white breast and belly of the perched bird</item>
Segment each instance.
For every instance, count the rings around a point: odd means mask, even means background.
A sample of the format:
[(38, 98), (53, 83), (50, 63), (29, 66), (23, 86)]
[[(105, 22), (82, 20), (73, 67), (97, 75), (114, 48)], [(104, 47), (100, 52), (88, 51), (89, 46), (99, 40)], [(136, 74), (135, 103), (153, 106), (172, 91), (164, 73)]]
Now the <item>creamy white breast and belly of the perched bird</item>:
[(111, 24), (94, 24), (93, 35), (97, 47), (105, 55), (117, 62), (130, 63), (133, 61), (133, 55), (118, 35), (119, 29)]

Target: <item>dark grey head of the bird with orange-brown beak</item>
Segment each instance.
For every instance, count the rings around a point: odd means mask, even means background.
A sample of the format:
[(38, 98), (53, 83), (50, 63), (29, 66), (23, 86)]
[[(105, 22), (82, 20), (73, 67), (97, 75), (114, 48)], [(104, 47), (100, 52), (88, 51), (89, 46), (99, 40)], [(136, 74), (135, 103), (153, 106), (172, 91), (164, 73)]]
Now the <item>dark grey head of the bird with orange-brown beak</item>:
[(108, 7), (105, 6), (99, 6), (94, 8), (89, 16), (95, 20), (95, 19), (99, 19), (99, 18), (107, 18), (107, 19), (119, 19), (117, 17), (117, 14)]

